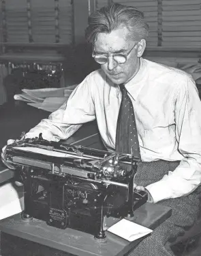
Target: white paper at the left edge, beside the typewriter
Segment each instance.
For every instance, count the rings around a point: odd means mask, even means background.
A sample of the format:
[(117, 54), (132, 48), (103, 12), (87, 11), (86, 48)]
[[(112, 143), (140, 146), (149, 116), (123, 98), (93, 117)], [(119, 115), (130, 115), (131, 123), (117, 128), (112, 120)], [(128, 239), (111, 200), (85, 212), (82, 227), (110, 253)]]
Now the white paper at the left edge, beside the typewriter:
[(24, 199), (20, 198), (12, 183), (0, 186), (0, 220), (22, 212)]

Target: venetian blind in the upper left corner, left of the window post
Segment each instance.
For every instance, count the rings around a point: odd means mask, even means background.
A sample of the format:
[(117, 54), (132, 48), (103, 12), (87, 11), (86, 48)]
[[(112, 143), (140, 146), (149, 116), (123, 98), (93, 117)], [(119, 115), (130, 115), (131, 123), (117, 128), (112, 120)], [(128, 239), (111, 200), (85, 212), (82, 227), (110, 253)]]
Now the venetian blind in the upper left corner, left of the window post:
[(71, 0), (1, 0), (3, 42), (71, 44)]

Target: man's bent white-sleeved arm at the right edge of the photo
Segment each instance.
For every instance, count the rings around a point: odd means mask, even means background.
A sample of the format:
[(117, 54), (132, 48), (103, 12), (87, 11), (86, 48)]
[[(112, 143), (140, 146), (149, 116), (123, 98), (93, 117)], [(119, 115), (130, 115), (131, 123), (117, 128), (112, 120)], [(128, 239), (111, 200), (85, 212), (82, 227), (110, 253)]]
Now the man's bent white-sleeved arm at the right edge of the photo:
[(175, 140), (183, 159), (163, 179), (148, 185), (153, 202), (190, 194), (201, 182), (201, 103), (193, 80), (178, 85), (175, 101)]

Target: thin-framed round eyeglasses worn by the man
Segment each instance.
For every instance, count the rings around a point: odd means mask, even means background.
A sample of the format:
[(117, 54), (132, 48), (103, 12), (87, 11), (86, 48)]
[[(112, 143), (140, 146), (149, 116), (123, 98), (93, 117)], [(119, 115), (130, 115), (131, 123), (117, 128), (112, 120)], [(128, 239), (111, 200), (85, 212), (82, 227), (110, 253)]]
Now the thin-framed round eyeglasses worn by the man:
[[(138, 42), (136, 42), (136, 44), (138, 44)], [(134, 47), (136, 46), (136, 44), (134, 44)], [(108, 57), (112, 56), (113, 60), (115, 60), (115, 62), (119, 63), (119, 64), (123, 64), (125, 62), (127, 62), (127, 57), (128, 55), (132, 52), (132, 50), (134, 49), (134, 47), (132, 47), (132, 49), (129, 50), (128, 53), (114, 53), (114, 54), (108, 54), (104, 55), (104, 54), (92, 54), (92, 57), (94, 58), (94, 60), (99, 63), (99, 64), (105, 64), (106, 62), (108, 62)]]

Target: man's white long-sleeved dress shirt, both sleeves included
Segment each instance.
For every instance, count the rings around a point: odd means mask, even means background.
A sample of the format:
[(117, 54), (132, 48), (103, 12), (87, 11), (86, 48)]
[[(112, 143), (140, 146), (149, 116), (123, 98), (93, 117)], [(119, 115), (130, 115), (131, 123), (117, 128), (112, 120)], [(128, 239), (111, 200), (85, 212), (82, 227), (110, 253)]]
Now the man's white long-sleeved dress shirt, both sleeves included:
[[(153, 202), (191, 193), (201, 181), (201, 103), (194, 80), (184, 71), (141, 58), (140, 70), (125, 88), (134, 105), (142, 161), (181, 160), (173, 172), (146, 187)], [(120, 103), (119, 86), (102, 70), (94, 71), (26, 137), (42, 132), (46, 140), (67, 139), (96, 118), (105, 146), (114, 150)]]

